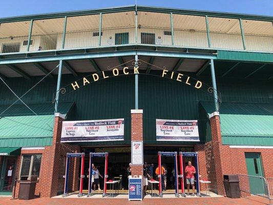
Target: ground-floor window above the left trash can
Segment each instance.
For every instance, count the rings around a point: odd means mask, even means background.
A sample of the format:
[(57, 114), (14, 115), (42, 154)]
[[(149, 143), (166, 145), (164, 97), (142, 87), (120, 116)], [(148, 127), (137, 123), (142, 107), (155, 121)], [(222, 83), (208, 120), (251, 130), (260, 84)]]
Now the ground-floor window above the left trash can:
[(39, 177), (41, 166), (41, 154), (22, 155), (19, 176), (37, 175)]

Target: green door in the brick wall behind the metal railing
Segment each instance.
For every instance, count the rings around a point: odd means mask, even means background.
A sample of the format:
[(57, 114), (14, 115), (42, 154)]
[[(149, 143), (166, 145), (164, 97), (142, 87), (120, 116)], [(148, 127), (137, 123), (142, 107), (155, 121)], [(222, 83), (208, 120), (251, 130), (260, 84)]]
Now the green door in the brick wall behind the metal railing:
[[(261, 177), (264, 176), (260, 153), (246, 152), (245, 161), (246, 161), (248, 175), (261, 176)], [(255, 195), (265, 194), (264, 180), (259, 177), (251, 177), (251, 176), (248, 177), (251, 194), (255, 194)]]

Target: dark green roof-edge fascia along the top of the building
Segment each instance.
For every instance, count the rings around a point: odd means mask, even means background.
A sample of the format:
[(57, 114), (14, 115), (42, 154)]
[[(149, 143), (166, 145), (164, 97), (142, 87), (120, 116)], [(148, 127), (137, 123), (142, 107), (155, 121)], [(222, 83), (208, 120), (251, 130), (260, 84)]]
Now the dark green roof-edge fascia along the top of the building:
[(31, 20), (31, 19), (36, 20), (36, 19), (48, 19), (48, 18), (60, 18), (65, 16), (80, 16), (80, 15), (91, 15), (91, 14), (99, 14), (99, 13), (134, 11), (136, 8), (138, 11), (147, 11), (147, 12), (174, 13), (174, 14), (201, 15), (201, 16), (207, 15), (207, 16), (213, 16), (213, 17), (243, 18), (243, 19), (266, 20), (266, 21), (273, 20), (272, 16), (264, 16), (264, 15), (251, 15), (251, 14), (239, 14), (239, 13), (228, 13), (228, 12), (214, 12), (214, 11), (200, 11), (200, 10), (130, 5), (130, 6), (122, 6), (122, 7), (104, 8), (104, 9), (92, 9), (92, 10), (80, 10), (80, 11), (70, 11), (70, 12), (57, 12), (57, 13), (47, 13), (47, 14), (5, 17), (5, 18), (0, 18), (0, 23), (18, 22), (18, 21)]

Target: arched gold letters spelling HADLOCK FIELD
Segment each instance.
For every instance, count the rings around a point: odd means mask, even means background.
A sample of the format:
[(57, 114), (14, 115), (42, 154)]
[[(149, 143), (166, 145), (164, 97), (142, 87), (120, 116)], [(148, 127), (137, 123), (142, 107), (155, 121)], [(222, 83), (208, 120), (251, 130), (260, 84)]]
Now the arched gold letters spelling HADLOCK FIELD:
[[(131, 70), (131, 74), (139, 74), (138, 69), (139, 69), (139, 67), (134, 67), (133, 73), (132, 73), (132, 70)], [(124, 67), (122, 69), (122, 71), (123, 71), (123, 73), (121, 72), (121, 75), (130, 74), (130, 71), (129, 71), (128, 67)], [(88, 84), (90, 84), (92, 82), (95, 82), (95, 81), (99, 80), (100, 78), (105, 79), (105, 78), (118, 76), (118, 75), (120, 75), (120, 71), (117, 68), (114, 68), (112, 70), (112, 74), (110, 72), (108, 72), (106, 74), (106, 73), (104, 73), (104, 71), (102, 71), (101, 74), (100, 73), (93, 73), (92, 77), (91, 76), (89, 78), (88, 77), (83, 77), (81, 85), (85, 86), (85, 85), (88, 85)], [(171, 71), (169, 73), (169, 71), (167, 71), (167, 70), (162, 70), (161, 77), (167, 77), (167, 78), (170, 78), (170, 79), (174, 79), (174, 80), (177, 80), (179, 82), (183, 82), (184, 84), (189, 85), (189, 86), (192, 85), (196, 89), (200, 89), (203, 86), (201, 81), (196, 80), (196, 79), (194, 79), (194, 78), (192, 78), (190, 76), (184, 76), (184, 74), (182, 74), (182, 73), (176, 73), (176, 72), (173, 72), (173, 71)], [(76, 90), (76, 89), (80, 88), (77, 81), (71, 83), (71, 86), (72, 86), (73, 90)]]

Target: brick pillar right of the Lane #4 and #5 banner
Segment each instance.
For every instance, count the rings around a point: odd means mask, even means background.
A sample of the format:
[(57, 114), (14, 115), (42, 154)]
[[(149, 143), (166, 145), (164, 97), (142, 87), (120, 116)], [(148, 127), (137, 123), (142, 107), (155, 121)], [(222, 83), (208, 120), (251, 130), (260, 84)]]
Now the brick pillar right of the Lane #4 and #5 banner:
[[(212, 151), (212, 157), (210, 163), (211, 163), (211, 171), (214, 173), (211, 173), (211, 178), (209, 180), (212, 181), (212, 186), (215, 186), (216, 193), (220, 195), (225, 194), (224, 190), (224, 184), (223, 184), (223, 169), (224, 169), (224, 160), (225, 156), (222, 152), (222, 139), (221, 139), (221, 126), (220, 126), (220, 118), (219, 113), (214, 112), (211, 114), (210, 117), (211, 121), (211, 131), (212, 131), (212, 141), (211, 141), (211, 151)], [(209, 163), (207, 161), (207, 163)], [(213, 187), (212, 187), (213, 189)]]

